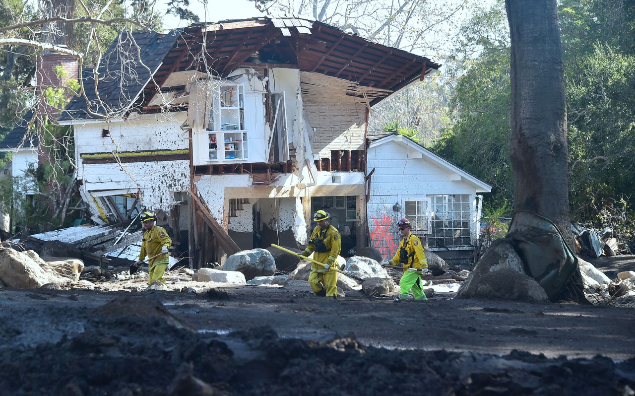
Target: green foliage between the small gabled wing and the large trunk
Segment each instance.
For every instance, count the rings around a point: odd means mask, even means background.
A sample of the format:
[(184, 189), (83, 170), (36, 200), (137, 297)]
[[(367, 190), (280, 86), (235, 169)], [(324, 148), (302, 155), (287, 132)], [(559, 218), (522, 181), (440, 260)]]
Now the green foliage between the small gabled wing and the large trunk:
[[(509, 43), (489, 37), (483, 24), (503, 24), (504, 21), (500, 7), (481, 10), (474, 14), (469, 26), (462, 29), (470, 42), (457, 51), (464, 54), (460, 63), (467, 66), (467, 70), (459, 74), (457, 67), (452, 73), (457, 76), (450, 100), (454, 123), (443, 130), (431, 147), (434, 153), (490, 184), (493, 189), (488, 200), (498, 202), (512, 200), (513, 192), (509, 163)], [(504, 27), (495, 31), (506, 32)], [(469, 59), (469, 54), (476, 51), (474, 43), (486, 44), (475, 61)]]

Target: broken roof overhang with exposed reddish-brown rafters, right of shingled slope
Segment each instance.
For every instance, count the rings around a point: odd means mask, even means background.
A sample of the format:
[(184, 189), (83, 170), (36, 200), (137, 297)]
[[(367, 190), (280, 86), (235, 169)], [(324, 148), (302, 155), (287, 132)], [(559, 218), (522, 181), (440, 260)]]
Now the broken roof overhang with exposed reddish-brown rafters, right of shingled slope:
[[(255, 54), (261, 58), (255, 59)], [(154, 84), (163, 86), (177, 71), (224, 77), (244, 65), (286, 65), (351, 81), (359, 89), (350, 95), (364, 96), (371, 106), (441, 67), (429, 58), (373, 43), (323, 22), (253, 18), (183, 29), (157, 70)], [(150, 92), (144, 95), (151, 96)]]

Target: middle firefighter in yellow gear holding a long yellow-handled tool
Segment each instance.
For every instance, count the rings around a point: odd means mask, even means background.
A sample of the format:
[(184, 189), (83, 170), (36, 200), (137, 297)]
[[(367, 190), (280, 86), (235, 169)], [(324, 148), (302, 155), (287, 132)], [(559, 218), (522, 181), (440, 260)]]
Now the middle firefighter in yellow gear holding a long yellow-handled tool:
[(342, 240), (337, 228), (330, 224), (331, 215), (324, 210), (318, 210), (313, 215), (313, 221), (318, 225), (311, 233), (311, 239), (302, 256), (313, 254), (313, 259), (326, 264), (324, 267), (316, 263), (311, 265), (309, 285), (316, 296), (333, 297), (337, 299), (337, 256), (342, 251)]

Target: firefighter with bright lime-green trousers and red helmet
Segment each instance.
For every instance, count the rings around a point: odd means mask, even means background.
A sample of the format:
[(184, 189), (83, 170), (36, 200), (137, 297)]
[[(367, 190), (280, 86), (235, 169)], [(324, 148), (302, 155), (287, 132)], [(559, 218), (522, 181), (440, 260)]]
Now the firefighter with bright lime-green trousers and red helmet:
[(415, 300), (427, 301), (425, 297), (422, 275), (428, 272), (428, 263), (425, 259), (424, 247), (421, 240), (410, 232), (411, 224), (404, 218), (397, 222), (397, 228), (401, 233), (401, 242), (394, 257), (388, 262), (391, 266), (404, 267), (403, 275), (399, 280), (399, 297), (395, 302), (407, 300), (410, 290)]

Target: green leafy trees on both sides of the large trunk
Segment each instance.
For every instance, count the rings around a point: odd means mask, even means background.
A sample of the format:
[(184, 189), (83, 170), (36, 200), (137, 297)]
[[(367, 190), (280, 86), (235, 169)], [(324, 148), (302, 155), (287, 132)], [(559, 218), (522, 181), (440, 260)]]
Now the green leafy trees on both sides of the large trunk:
[[(634, 213), (635, 2), (559, 2), (565, 60), (574, 221), (600, 226), (599, 215), (624, 197)], [(432, 151), (493, 186), (492, 202), (513, 199), (509, 164), (509, 39), (501, 3), (474, 13), (461, 29), (453, 124)], [(500, 206), (500, 204), (499, 204)]]

